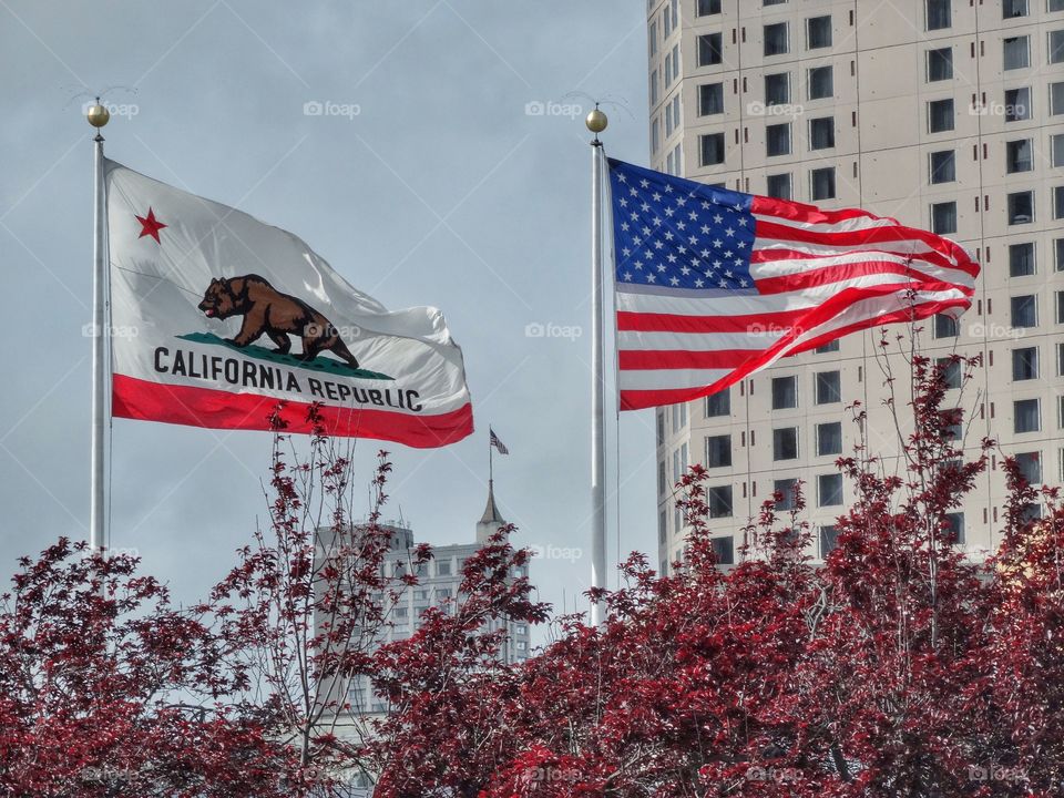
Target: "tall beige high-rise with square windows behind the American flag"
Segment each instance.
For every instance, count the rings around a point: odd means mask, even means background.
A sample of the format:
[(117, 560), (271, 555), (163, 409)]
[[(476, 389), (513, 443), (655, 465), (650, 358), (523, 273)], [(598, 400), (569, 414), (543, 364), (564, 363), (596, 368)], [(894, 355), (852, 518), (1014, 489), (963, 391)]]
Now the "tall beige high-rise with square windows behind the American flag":
[[(921, 346), (982, 355), (973, 383), (950, 391), (966, 449), (992, 433), (1032, 482), (1064, 481), (1064, 0), (649, 0), (647, 28), (652, 166), (866, 208), (966, 247), (982, 266), (972, 308), (922, 323)], [(873, 450), (898, 451), (878, 339), (853, 334), (657, 410), (663, 570), (683, 553), (673, 485), (694, 462), (710, 474), (723, 562), (795, 480), (811, 553), (830, 551), (851, 498), (835, 468), (858, 433), (847, 406), (869, 411)], [(972, 556), (996, 546), (1003, 498), (989, 473), (951, 518)]]

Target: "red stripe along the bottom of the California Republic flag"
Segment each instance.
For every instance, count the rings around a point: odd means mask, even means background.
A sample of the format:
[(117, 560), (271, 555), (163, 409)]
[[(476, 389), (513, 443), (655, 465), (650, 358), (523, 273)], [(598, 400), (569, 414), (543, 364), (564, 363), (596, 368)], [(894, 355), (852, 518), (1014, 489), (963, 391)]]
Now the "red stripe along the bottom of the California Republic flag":
[[(268, 430), (268, 417), (280, 403), (274, 397), (165, 385), (124, 375), (114, 375), (112, 386), (112, 415), (116, 418), (208, 429)], [(309, 402), (285, 401), (280, 411), (288, 422), (285, 431), (311, 432), (309, 409)], [(375, 438), (417, 449), (454, 443), (473, 431), (473, 411), (468, 402), (458, 410), (434, 416), (324, 405), (321, 419), (332, 436)]]

